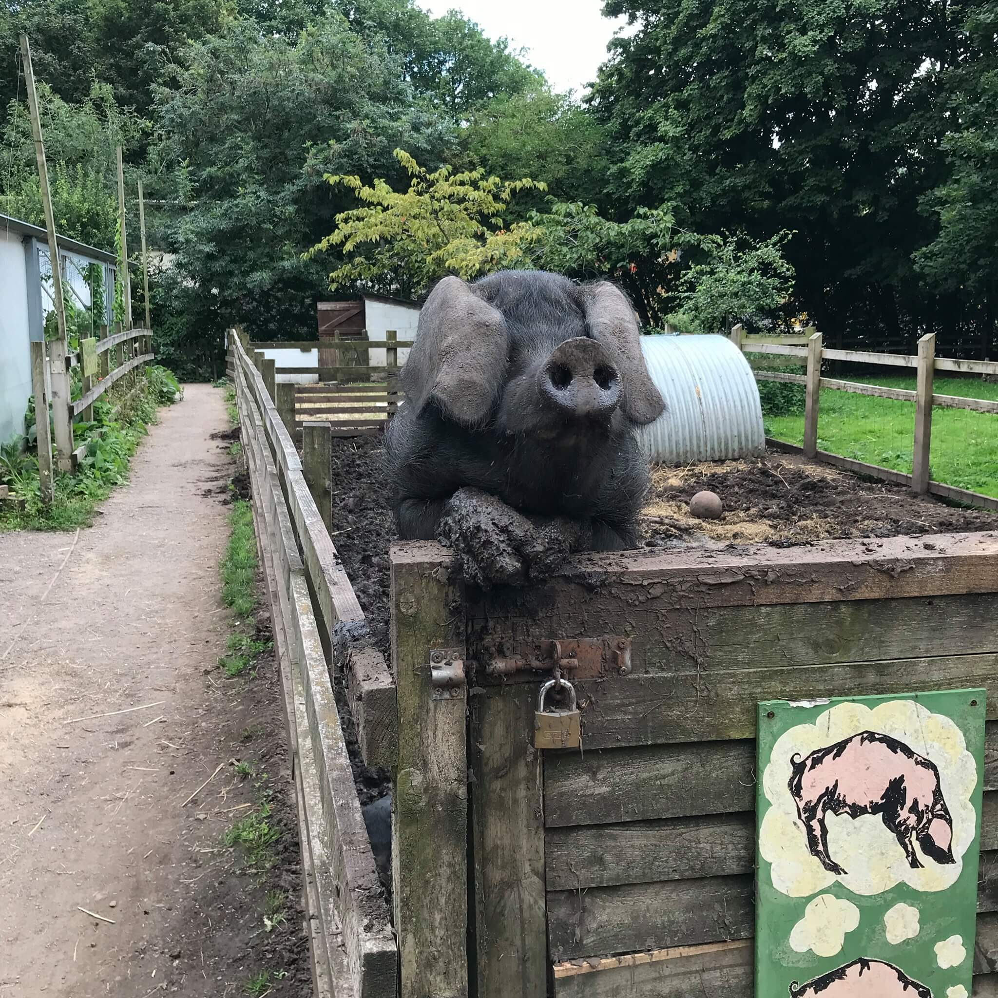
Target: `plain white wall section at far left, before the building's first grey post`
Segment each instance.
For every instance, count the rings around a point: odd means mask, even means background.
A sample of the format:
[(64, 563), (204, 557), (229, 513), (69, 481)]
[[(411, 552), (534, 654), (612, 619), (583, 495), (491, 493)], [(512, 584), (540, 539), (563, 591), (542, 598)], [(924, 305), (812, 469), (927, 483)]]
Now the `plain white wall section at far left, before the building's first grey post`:
[(21, 237), (0, 228), (0, 440), (24, 433), (31, 395), (28, 292)]

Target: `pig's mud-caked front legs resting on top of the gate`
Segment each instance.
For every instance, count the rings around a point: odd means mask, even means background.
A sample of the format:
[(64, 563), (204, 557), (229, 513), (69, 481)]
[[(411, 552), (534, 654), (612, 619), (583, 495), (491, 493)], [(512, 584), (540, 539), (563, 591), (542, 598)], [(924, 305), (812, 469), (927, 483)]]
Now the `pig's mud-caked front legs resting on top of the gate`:
[(565, 517), (528, 518), (481, 489), (458, 489), (447, 501), (438, 536), (454, 549), (466, 581), (525, 586), (557, 571), (572, 552), (588, 547), (587, 523)]

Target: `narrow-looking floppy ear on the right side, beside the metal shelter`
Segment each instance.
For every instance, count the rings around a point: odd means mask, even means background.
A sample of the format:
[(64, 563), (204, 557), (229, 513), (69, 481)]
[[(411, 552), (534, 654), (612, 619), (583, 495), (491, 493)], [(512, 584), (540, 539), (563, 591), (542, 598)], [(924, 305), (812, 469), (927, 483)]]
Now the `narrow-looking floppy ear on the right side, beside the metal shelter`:
[(645, 366), (631, 302), (620, 288), (601, 280), (583, 288), (583, 307), (589, 334), (606, 348), (620, 371), (624, 414), (642, 424), (657, 419), (666, 403)]

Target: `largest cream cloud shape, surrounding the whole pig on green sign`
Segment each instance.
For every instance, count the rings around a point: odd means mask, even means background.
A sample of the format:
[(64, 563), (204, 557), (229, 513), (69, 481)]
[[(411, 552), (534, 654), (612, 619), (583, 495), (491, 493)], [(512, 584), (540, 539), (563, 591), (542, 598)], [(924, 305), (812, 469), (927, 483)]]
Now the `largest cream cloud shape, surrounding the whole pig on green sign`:
[[(953, 819), (954, 863), (939, 864), (917, 845), (920, 869), (908, 865), (904, 850), (878, 814), (825, 817), (828, 854), (846, 873), (826, 870), (807, 848), (804, 829), (787, 785), (792, 774), (790, 757), (804, 758), (860, 732), (878, 732), (903, 742), (931, 759), (939, 770), (943, 797)], [(762, 818), (758, 849), (770, 863), (772, 885), (790, 897), (807, 897), (838, 881), (856, 894), (869, 896), (906, 883), (915, 890), (939, 891), (951, 887), (963, 869), (962, 857), (974, 840), (977, 816), (971, 794), (977, 784), (977, 766), (967, 751), (963, 733), (945, 715), (933, 714), (917, 701), (894, 700), (870, 709), (863, 704), (836, 704), (815, 718), (784, 732), (772, 747), (762, 774), (762, 790), (770, 807)]]

